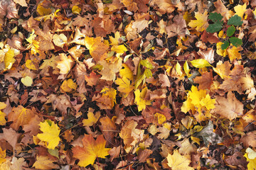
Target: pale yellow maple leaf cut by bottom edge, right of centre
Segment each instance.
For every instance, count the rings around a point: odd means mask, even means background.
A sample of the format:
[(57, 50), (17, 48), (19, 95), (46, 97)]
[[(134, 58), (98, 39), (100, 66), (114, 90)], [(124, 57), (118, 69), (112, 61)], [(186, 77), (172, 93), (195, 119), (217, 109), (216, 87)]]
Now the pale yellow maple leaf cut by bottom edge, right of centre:
[(168, 154), (166, 159), (168, 166), (170, 166), (172, 170), (193, 170), (191, 166), (188, 166), (191, 161), (182, 156), (176, 149), (174, 150), (174, 154)]

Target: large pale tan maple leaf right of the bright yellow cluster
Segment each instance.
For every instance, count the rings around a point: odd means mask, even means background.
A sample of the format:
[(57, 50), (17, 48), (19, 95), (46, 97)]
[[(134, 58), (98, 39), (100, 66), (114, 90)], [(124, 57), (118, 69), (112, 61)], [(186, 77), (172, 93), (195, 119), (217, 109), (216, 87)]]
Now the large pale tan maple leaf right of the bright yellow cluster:
[(213, 112), (221, 115), (224, 118), (233, 120), (238, 116), (243, 115), (243, 104), (235, 98), (235, 94), (228, 92), (228, 98), (216, 97), (215, 108)]

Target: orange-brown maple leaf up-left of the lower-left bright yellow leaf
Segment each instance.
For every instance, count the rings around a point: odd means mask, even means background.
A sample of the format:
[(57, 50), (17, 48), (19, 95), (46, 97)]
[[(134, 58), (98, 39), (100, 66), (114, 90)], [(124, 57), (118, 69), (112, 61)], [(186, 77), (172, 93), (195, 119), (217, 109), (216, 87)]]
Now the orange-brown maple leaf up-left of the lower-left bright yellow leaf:
[(11, 113), (8, 115), (8, 120), (13, 121), (11, 128), (18, 130), (19, 126), (24, 126), (35, 116), (36, 109), (23, 108), (19, 105), (17, 108), (13, 108)]

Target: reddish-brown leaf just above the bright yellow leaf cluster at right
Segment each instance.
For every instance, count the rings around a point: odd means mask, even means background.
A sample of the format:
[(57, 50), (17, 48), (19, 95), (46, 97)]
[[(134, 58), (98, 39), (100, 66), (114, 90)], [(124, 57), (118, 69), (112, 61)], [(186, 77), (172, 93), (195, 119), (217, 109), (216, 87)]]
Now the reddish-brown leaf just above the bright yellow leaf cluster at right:
[(199, 84), (198, 89), (210, 89), (211, 84), (213, 84), (213, 71), (203, 72), (201, 77), (196, 77), (193, 79), (196, 84)]

